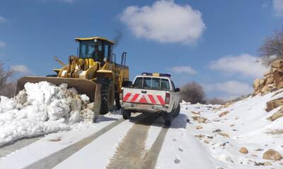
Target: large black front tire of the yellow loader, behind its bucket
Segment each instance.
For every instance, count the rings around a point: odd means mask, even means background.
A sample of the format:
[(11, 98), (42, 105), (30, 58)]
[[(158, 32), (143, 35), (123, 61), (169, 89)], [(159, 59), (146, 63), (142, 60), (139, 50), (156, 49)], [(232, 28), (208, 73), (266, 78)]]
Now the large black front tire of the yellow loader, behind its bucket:
[(98, 81), (101, 84), (101, 107), (100, 114), (106, 114), (113, 110), (115, 89), (113, 81), (110, 79), (100, 79)]

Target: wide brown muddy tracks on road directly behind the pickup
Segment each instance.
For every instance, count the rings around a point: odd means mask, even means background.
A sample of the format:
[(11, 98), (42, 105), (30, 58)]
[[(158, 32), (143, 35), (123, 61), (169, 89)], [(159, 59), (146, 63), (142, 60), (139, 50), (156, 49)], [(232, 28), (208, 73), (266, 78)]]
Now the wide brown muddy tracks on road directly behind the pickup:
[(164, 126), (149, 151), (145, 150), (149, 128), (160, 116), (158, 114), (142, 118), (127, 132), (122, 139), (115, 156), (110, 160), (108, 169), (116, 168), (155, 168), (159, 151), (163, 144), (168, 127)]

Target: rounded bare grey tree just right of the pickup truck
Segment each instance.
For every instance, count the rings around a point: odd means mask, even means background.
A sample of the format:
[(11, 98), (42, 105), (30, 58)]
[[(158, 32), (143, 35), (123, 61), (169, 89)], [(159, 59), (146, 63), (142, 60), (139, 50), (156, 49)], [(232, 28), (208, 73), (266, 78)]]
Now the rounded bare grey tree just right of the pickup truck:
[(204, 89), (200, 84), (197, 84), (197, 82), (187, 83), (180, 89), (181, 101), (187, 101), (191, 104), (205, 104), (204, 97)]

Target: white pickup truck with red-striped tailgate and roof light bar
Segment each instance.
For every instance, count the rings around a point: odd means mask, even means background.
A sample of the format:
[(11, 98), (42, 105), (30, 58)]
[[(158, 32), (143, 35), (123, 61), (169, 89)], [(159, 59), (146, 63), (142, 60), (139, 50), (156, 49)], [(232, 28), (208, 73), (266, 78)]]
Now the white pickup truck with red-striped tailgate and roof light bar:
[(122, 87), (122, 115), (162, 113), (166, 125), (180, 113), (180, 89), (175, 88), (170, 74), (142, 73), (128, 87)]

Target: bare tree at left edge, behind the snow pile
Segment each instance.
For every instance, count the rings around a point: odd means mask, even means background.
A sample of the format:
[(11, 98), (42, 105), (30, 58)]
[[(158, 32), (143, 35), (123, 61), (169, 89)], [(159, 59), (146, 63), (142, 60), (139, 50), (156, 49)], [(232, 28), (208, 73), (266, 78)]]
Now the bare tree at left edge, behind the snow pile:
[(13, 70), (4, 70), (4, 63), (0, 63), (0, 95), (12, 97), (16, 89), (15, 82), (11, 81)]

